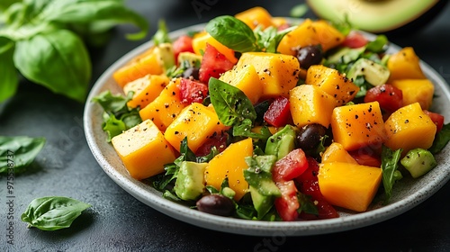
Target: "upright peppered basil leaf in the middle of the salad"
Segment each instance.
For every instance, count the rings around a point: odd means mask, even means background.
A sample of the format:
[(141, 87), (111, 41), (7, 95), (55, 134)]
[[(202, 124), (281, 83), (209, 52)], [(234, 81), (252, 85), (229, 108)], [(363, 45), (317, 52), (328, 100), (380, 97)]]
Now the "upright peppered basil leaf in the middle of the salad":
[(250, 121), (257, 119), (253, 104), (238, 87), (211, 77), (209, 92), (214, 110), (223, 124), (232, 126), (246, 119)]

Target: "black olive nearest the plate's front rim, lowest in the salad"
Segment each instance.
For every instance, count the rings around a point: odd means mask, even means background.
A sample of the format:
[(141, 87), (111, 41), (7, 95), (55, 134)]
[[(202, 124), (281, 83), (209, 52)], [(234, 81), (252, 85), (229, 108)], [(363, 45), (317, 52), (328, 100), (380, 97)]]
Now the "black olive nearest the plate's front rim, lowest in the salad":
[(214, 215), (230, 216), (235, 210), (234, 202), (222, 194), (208, 194), (202, 196), (196, 203), (199, 211)]

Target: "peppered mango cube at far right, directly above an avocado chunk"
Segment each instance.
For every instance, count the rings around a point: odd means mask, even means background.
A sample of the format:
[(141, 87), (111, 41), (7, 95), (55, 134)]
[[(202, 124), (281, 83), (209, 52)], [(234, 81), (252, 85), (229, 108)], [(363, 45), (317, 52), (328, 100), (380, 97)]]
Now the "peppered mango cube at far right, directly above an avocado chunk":
[(401, 107), (384, 122), (387, 139), (384, 144), (393, 150), (402, 148), (403, 154), (412, 148), (430, 148), (437, 126), (422, 111), (419, 103)]

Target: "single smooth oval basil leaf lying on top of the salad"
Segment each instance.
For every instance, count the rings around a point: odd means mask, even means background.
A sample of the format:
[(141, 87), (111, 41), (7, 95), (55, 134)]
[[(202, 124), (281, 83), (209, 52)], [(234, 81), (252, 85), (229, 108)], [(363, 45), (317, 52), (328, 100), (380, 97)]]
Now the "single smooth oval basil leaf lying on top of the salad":
[(238, 52), (260, 50), (257, 47), (257, 38), (251, 28), (233, 16), (216, 17), (206, 24), (205, 30), (210, 33), (212, 38), (229, 49)]

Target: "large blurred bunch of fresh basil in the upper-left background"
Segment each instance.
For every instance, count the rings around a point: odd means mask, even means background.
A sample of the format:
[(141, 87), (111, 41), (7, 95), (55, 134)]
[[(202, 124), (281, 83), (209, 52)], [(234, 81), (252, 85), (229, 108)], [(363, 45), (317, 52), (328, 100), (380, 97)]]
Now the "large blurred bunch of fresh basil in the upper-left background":
[[(117, 0), (9, 0), (0, 4), (0, 102), (13, 96), (18, 72), (56, 94), (85, 101), (91, 79), (86, 43), (101, 45), (112, 26), (132, 23), (143, 39), (147, 21)], [(18, 70), (18, 71), (17, 71)]]

